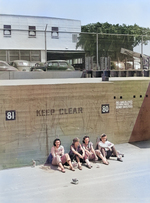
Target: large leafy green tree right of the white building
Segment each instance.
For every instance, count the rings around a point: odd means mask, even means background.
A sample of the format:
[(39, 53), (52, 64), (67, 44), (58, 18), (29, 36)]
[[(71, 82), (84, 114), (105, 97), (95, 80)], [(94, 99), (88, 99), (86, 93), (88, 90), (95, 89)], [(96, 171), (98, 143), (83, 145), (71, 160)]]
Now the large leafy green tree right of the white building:
[(136, 45), (142, 42), (146, 45), (150, 40), (150, 29), (138, 25), (112, 25), (109, 23), (93, 23), (84, 25), (81, 28), (76, 47), (82, 47), (86, 56), (96, 56), (96, 33), (98, 33), (98, 54), (109, 56), (112, 60), (122, 60), (121, 48), (133, 50)]

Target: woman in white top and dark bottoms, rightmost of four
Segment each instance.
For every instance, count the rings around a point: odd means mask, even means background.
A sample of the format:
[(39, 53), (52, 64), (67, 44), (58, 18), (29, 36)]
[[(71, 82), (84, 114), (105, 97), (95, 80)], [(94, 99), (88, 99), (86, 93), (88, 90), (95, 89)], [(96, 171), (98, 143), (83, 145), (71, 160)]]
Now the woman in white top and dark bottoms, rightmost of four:
[(114, 155), (117, 157), (117, 161), (121, 161), (121, 162), (123, 161), (121, 159), (120, 154), (117, 152), (114, 144), (107, 140), (106, 134), (102, 134), (100, 136), (100, 141), (98, 142), (97, 145), (98, 145), (98, 149), (101, 151), (102, 155), (106, 159), (109, 159), (110, 156)]

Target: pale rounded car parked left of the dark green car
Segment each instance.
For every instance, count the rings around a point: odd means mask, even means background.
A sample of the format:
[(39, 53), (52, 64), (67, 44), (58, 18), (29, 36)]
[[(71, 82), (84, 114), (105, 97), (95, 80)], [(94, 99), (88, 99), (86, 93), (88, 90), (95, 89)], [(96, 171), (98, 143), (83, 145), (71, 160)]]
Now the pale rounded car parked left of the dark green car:
[(14, 60), (11, 61), (9, 64), (17, 68), (19, 71), (29, 72), (31, 68), (30, 62), (26, 60)]

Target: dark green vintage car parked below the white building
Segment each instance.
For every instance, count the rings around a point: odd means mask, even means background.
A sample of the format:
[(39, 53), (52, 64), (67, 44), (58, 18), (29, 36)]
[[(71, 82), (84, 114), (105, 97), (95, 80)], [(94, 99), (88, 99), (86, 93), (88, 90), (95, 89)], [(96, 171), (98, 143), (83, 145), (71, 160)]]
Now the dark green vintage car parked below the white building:
[(41, 71), (41, 70), (74, 71), (75, 69), (65, 60), (50, 60), (47, 61), (46, 63), (36, 63), (35, 66), (31, 67), (31, 71)]

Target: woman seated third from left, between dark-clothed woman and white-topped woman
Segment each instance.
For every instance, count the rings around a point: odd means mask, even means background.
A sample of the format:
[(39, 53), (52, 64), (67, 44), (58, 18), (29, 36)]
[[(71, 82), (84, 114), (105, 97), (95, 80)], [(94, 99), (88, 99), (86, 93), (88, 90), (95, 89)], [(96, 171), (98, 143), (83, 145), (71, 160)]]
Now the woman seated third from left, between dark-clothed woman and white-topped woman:
[[(107, 160), (106, 158), (103, 157), (103, 155), (101, 154), (100, 150), (94, 150), (93, 148), (93, 143), (90, 141), (89, 136), (84, 136), (83, 137), (83, 149), (85, 150), (85, 162), (87, 163), (88, 168), (91, 168), (91, 163), (90, 161), (97, 161), (98, 157), (100, 159), (102, 159), (103, 163), (107, 165)], [(98, 156), (98, 157), (97, 157)]]

